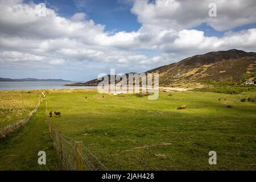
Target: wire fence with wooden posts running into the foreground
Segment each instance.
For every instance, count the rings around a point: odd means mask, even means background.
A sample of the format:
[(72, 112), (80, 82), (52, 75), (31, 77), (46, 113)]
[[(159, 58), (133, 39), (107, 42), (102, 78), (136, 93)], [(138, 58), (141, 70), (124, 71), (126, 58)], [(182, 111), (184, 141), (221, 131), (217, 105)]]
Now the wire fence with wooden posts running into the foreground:
[(76, 141), (60, 131), (49, 122), (46, 99), (46, 118), (53, 146), (60, 161), (60, 168), (71, 171), (105, 171), (108, 170), (98, 158), (80, 141)]

